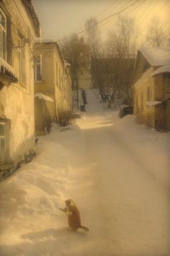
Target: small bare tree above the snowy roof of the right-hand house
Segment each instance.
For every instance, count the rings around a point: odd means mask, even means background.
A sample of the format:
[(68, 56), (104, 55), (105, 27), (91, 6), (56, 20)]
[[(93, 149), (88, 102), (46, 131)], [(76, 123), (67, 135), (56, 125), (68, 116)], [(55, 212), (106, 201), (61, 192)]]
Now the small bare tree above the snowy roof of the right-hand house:
[(154, 16), (148, 26), (146, 41), (152, 47), (159, 47), (166, 43), (166, 32), (161, 18)]

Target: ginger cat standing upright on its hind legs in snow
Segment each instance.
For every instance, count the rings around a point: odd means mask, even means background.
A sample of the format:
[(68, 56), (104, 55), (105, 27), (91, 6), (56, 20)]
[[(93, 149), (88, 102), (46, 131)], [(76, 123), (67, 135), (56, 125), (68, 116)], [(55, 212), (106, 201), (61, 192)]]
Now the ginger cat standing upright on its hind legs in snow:
[(75, 203), (72, 199), (68, 199), (65, 201), (66, 208), (60, 208), (61, 211), (67, 214), (68, 216), (68, 226), (73, 230), (76, 231), (77, 229), (83, 229), (84, 231), (89, 231), (86, 226), (81, 226), (81, 218), (80, 212), (76, 207)]

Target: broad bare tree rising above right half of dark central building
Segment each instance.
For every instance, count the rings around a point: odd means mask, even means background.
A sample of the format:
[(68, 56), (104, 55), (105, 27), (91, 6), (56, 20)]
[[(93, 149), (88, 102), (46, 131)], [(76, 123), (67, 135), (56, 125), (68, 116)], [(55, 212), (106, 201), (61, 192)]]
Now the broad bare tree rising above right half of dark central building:
[(135, 19), (119, 17), (114, 30), (109, 31), (107, 39), (107, 53), (117, 58), (131, 58), (135, 56), (138, 38)]

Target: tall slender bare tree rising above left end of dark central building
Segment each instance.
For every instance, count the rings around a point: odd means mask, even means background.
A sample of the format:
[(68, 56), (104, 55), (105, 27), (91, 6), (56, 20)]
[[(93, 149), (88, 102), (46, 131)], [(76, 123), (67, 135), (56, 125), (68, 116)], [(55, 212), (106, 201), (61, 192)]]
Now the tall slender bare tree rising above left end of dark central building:
[(91, 57), (97, 58), (99, 56), (99, 27), (97, 26), (97, 19), (91, 18), (87, 19), (85, 23), (86, 35), (88, 44), (91, 51)]

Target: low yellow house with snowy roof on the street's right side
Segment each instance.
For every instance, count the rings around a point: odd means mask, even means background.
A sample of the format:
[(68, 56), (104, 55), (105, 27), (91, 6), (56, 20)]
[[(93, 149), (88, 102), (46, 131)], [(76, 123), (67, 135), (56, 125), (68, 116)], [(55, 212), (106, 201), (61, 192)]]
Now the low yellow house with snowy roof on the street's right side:
[(140, 123), (170, 131), (170, 48), (143, 48), (135, 60), (134, 112)]

